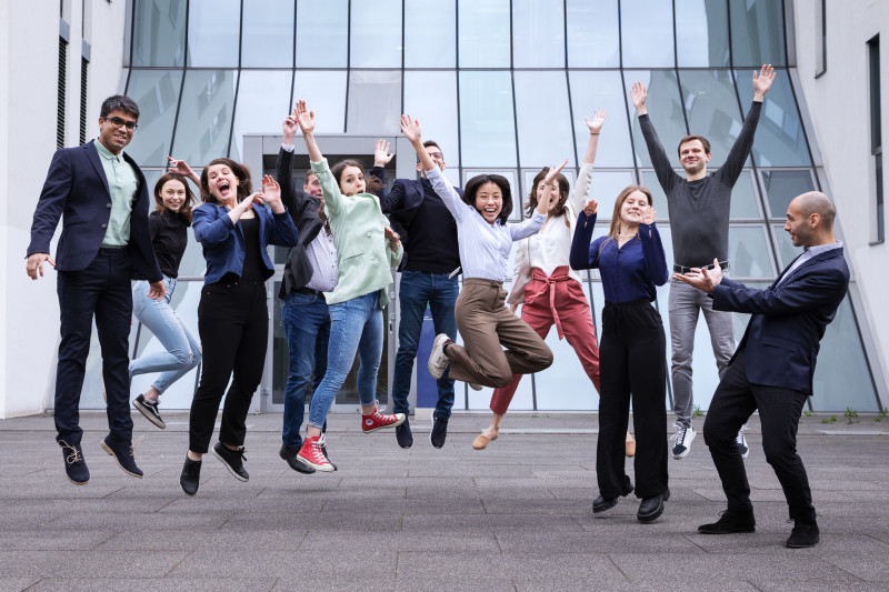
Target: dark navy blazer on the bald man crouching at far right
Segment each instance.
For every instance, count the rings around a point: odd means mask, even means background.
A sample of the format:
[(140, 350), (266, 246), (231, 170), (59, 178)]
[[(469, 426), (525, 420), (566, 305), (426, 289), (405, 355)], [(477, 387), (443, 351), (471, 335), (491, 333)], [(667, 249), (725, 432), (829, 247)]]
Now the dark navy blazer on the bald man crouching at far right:
[(738, 347), (747, 348), (747, 380), (811, 395), (820, 341), (846, 295), (849, 268), (840, 248), (806, 261), (777, 285), (786, 272), (766, 290), (723, 278), (711, 292), (713, 309), (752, 314)]

